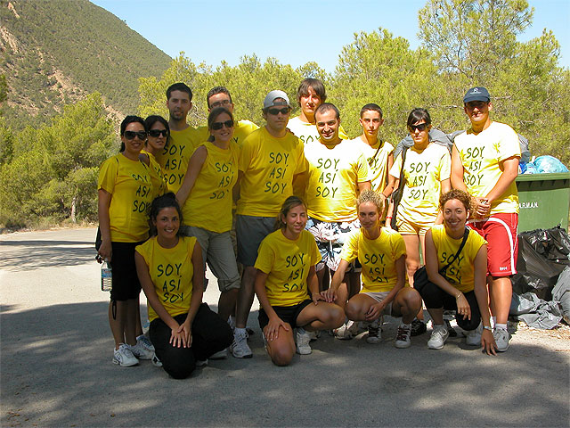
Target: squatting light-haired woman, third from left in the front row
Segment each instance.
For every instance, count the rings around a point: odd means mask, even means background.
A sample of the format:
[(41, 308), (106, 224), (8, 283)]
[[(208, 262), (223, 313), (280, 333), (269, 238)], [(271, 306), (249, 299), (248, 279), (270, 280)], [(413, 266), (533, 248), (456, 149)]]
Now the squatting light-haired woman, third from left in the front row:
[[(328, 301), (344, 301), (346, 290), (339, 290), (346, 268), (356, 258), (362, 265), (362, 291), (346, 303), (346, 317), (351, 322), (338, 339), (351, 339), (357, 333), (357, 321), (370, 323), (366, 342), (381, 341), (382, 315), (402, 317), (395, 338), (396, 348), (411, 346), (411, 321), (421, 308), (419, 292), (404, 287), (406, 246), (403, 237), (392, 229), (383, 228), (383, 198), (365, 190), (356, 202), (361, 228), (354, 231), (343, 246), (340, 265), (332, 277), (330, 289), (323, 294)], [(344, 285), (343, 285), (344, 287)]]

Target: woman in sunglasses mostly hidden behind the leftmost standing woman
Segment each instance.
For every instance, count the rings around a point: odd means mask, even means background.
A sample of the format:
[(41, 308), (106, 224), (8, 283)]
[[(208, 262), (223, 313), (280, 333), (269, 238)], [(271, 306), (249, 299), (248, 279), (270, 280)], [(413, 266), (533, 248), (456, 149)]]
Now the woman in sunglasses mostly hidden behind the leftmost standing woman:
[(170, 137), (170, 128), (167, 119), (162, 116), (151, 115), (144, 119), (149, 136), (144, 144), (139, 158), (146, 165), (150, 166), (154, 174), (152, 175), (152, 185), (155, 188), (155, 197), (164, 194), (167, 190), (167, 182), (162, 174), (157, 155), (164, 149)]

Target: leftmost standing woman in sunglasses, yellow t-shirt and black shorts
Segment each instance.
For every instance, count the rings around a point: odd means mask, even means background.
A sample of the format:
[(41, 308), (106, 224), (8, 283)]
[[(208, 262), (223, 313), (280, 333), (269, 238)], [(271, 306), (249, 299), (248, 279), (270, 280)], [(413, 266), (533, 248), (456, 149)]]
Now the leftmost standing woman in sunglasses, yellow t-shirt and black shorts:
[(148, 211), (155, 192), (151, 168), (139, 159), (147, 139), (144, 120), (126, 116), (120, 133), (120, 152), (104, 161), (99, 171), (102, 243), (98, 259), (109, 260), (113, 271), (109, 304), (109, 324), (115, 340), (113, 363), (134, 366), (139, 359), (151, 359), (154, 354), (142, 334), (141, 284), (134, 266), (134, 247), (149, 236)]

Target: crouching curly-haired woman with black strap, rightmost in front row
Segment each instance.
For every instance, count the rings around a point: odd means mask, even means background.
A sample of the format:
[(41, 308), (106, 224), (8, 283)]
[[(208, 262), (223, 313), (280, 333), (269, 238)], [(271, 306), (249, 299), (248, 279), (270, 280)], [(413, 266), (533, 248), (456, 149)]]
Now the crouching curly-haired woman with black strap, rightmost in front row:
[[(439, 198), (444, 224), (432, 226), (426, 234), (426, 270), (430, 283), (420, 286), (419, 293), (434, 325), (429, 349), (444, 348), (449, 336), (444, 309), (450, 309), (457, 310), (457, 324), (468, 332), (467, 344), (481, 345), (487, 354), (494, 355), (497, 345), (491, 329), (486, 285), (487, 242), (475, 230), (465, 227), (472, 205), (471, 196), (458, 189)], [(454, 258), (466, 230), (467, 241)]]

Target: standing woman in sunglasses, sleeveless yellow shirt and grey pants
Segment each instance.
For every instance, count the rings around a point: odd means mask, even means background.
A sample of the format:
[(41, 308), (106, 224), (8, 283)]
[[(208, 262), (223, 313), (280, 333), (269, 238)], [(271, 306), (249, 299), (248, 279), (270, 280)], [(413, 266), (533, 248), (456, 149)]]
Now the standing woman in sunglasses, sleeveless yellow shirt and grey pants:
[[(176, 199), (183, 207), (183, 235), (196, 236), (204, 261), (220, 289), (218, 315), (230, 317), (240, 289), (232, 238), (232, 190), (238, 178), (239, 148), (232, 142), (232, 112), (216, 107), (208, 115), (208, 141), (192, 154)], [(218, 356), (222, 357), (221, 355)]]

